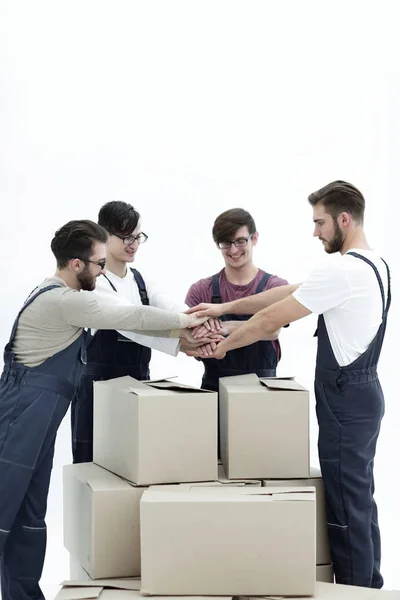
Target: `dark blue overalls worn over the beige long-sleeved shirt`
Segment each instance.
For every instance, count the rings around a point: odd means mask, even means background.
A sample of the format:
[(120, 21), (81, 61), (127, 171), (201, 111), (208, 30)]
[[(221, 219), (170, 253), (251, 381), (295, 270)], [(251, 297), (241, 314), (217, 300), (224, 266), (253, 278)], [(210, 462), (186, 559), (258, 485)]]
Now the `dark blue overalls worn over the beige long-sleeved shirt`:
[(0, 572), (3, 600), (40, 600), (46, 552), (47, 495), (57, 430), (86, 362), (86, 333), (37, 367), (15, 361), (19, 312), (0, 379)]

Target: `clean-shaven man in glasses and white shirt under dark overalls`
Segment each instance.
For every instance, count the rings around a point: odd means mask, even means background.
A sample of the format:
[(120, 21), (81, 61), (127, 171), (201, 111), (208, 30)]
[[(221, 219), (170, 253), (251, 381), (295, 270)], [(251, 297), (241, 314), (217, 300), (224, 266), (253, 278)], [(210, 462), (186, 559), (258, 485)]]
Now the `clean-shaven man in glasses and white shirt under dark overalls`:
[[(107, 262), (96, 289), (91, 291), (103, 306), (149, 305), (173, 312), (184, 312), (187, 306), (176, 302), (156, 282), (145, 280), (136, 269), (129, 268), (139, 246), (147, 235), (141, 229), (140, 215), (131, 204), (107, 202), (101, 207), (98, 223), (109, 234)], [(179, 308), (178, 308), (179, 307)], [(218, 327), (218, 323), (213, 327)], [(195, 350), (201, 346), (210, 352), (215, 340), (222, 339), (209, 331), (202, 340), (194, 340), (189, 330), (182, 330), (180, 339), (151, 337), (131, 331), (91, 330), (94, 336), (88, 345), (87, 367), (77, 394), (71, 404), (72, 455), (74, 463), (93, 460), (93, 382), (130, 375), (135, 379), (150, 378), (151, 349), (176, 356), (178, 351)]]

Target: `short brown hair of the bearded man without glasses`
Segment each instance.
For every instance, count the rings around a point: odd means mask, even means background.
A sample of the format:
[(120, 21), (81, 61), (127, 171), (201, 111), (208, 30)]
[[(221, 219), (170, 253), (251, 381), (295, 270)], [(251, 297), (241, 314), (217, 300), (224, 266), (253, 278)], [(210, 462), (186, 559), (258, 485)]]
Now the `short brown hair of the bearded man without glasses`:
[(347, 181), (332, 181), (308, 196), (311, 206), (321, 203), (335, 219), (342, 212), (349, 213), (355, 221), (364, 220), (365, 199), (360, 190)]

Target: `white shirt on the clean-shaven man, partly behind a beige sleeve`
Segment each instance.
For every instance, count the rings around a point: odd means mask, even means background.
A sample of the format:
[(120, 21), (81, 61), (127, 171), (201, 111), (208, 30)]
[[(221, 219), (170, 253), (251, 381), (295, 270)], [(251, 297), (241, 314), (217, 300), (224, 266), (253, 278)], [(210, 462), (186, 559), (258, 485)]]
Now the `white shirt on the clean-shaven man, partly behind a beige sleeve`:
[[(112, 289), (107, 279), (100, 275), (100, 277), (97, 278), (96, 289), (93, 292), (89, 292), (90, 294), (96, 294), (99, 301), (105, 301), (107, 303), (116, 302), (118, 304), (134, 304), (135, 306), (142, 305), (139, 288), (133, 277), (133, 273), (129, 268), (124, 277), (118, 277), (110, 271), (106, 271), (106, 275), (116, 288), (117, 292)], [(188, 307), (186, 304), (172, 300), (171, 297), (160, 289), (155, 282), (144, 281), (150, 306), (163, 308), (164, 310), (173, 312), (184, 312), (187, 310)], [(92, 329), (92, 333), (94, 334), (95, 330)], [(177, 338), (151, 337), (132, 333), (131, 331), (120, 331), (119, 333), (133, 342), (146, 346), (147, 348), (152, 348), (153, 350), (159, 350), (160, 352), (171, 354), (172, 356), (177, 356), (179, 352), (179, 339)]]

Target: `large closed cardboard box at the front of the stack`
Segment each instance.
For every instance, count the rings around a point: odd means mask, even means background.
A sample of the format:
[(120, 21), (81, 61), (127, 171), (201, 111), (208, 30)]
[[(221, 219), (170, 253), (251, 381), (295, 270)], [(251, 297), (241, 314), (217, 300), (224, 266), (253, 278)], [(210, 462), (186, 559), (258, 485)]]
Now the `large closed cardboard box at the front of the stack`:
[(140, 518), (145, 594), (314, 592), (311, 488), (149, 489)]

